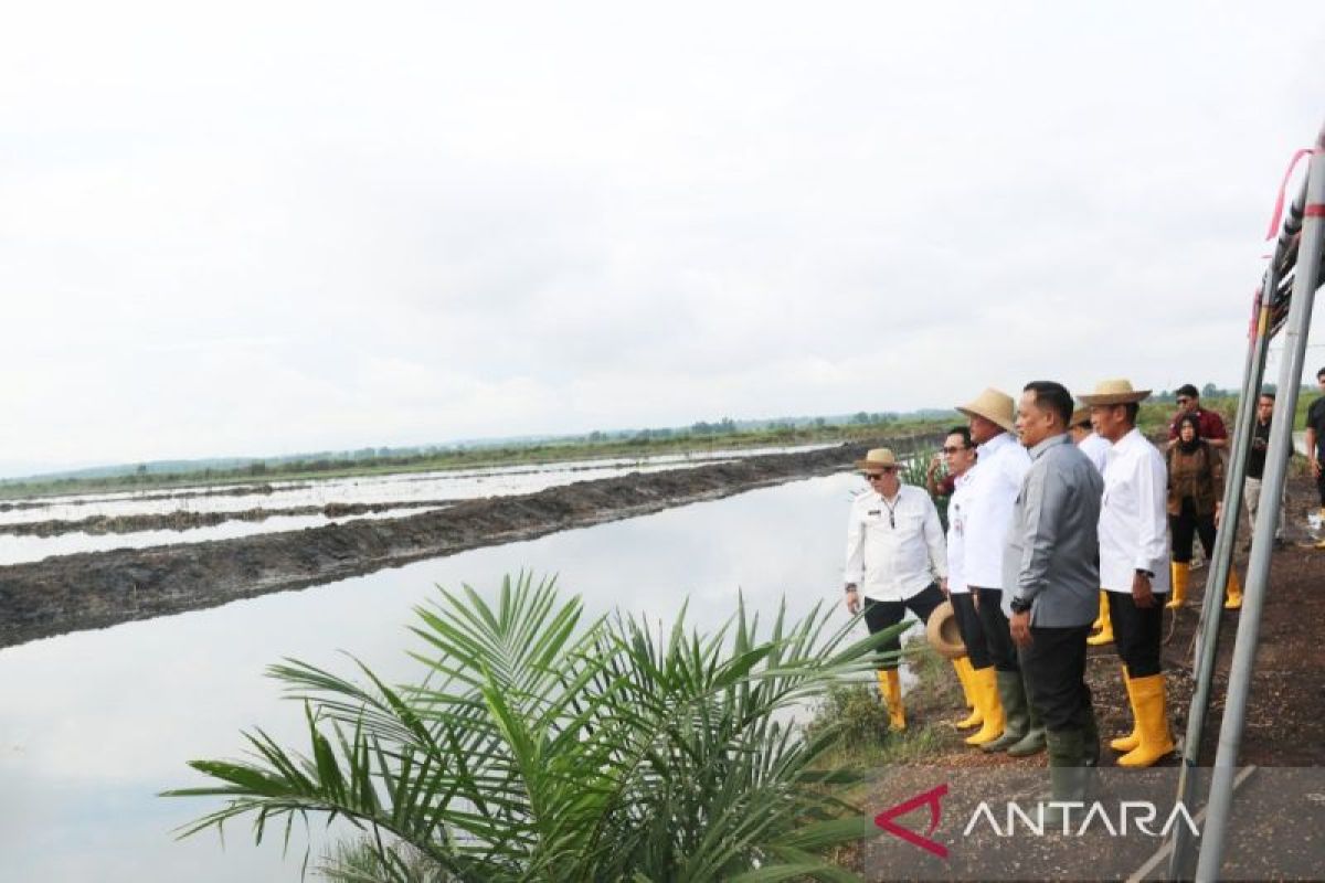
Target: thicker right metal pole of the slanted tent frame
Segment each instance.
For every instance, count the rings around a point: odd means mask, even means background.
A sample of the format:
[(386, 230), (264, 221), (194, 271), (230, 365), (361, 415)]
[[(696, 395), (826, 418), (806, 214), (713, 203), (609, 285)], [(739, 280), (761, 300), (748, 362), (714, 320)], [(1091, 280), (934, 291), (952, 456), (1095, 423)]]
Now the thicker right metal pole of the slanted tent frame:
[(1306, 221), (1302, 225), (1301, 246), (1297, 254), (1297, 278), (1293, 301), (1284, 328), (1284, 364), (1279, 372), (1279, 397), (1275, 400), (1273, 425), (1269, 428), (1269, 449), (1265, 451), (1265, 473), (1261, 481), (1261, 499), (1271, 500), (1256, 515), (1252, 536), (1251, 561), (1247, 565), (1247, 592), (1238, 622), (1238, 643), (1234, 647), (1228, 673), (1228, 698), (1224, 719), (1219, 728), (1219, 751), (1215, 755), (1214, 780), (1210, 788), (1206, 833), (1200, 842), (1196, 863), (1198, 883), (1215, 880), (1223, 864), (1224, 834), (1228, 829), (1228, 810), (1232, 805), (1234, 772), (1242, 747), (1242, 731), (1247, 718), (1247, 695), (1256, 661), (1256, 642), (1260, 634), (1260, 614), (1265, 601), (1269, 576), (1269, 552), (1275, 541), (1275, 520), (1279, 518), (1279, 498), (1284, 492), (1288, 458), (1292, 451), (1293, 414), (1297, 410), (1297, 391), (1306, 359), (1306, 336), (1312, 323), (1312, 304), (1320, 281), (1321, 256), (1325, 252), (1325, 151), (1312, 156), (1306, 179)]

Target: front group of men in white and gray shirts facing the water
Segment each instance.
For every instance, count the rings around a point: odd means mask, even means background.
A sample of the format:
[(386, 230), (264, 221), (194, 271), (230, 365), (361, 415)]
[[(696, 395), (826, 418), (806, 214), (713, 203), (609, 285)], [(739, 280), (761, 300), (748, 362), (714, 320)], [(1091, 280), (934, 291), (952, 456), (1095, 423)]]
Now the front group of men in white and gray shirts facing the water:
[[(1100, 735), (1085, 683), (1086, 639), (1101, 589), (1136, 725), (1114, 739), (1122, 767), (1173, 751), (1161, 673), (1161, 616), (1170, 586), (1166, 466), (1137, 430), (1149, 391), (1108, 380), (1089, 396), (1093, 434), (1073, 443), (1072, 395), (1034, 381), (1020, 398), (986, 389), (958, 408), (969, 426), (943, 445), (954, 477), (943, 535), (929, 494), (901, 483), (901, 463), (874, 449), (857, 463), (869, 490), (852, 503), (847, 608), (871, 631), (906, 610), (928, 621), (945, 594), (966, 655), (954, 661), (979, 729), (967, 744), (1031, 755), (1048, 749), (1055, 801), (1079, 801)], [(1077, 413), (1080, 417), (1080, 413)], [(905, 727), (900, 645), (884, 647), (880, 692)]]

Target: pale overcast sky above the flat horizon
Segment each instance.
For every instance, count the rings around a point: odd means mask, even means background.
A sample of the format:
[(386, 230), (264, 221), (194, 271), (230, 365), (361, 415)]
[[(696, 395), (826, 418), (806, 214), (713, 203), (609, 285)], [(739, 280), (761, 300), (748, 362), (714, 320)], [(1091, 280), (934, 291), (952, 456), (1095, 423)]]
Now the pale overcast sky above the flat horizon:
[(5, 17), (0, 474), (1234, 387), (1325, 122), (1318, 0)]

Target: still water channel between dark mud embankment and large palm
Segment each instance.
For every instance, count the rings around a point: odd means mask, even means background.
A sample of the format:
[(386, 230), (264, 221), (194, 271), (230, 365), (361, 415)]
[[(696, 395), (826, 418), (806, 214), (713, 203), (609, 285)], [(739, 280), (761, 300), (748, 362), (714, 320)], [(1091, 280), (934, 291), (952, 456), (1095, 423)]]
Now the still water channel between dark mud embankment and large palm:
[[(556, 573), (590, 613), (612, 606), (716, 627), (735, 609), (839, 605), (844, 526), (860, 479), (836, 475), (696, 503), (529, 543), (0, 650), (0, 879), (297, 880), (294, 837), (252, 845), (244, 825), (183, 842), (171, 830), (219, 806), (154, 797), (203, 784), (196, 757), (237, 757), (261, 725), (303, 747), (301, 708), (262, 676), (285, 657), (350, 674), (352, 651), (391, 679), (411, 676), (411, 609), (435, 585), (492, 593), (521, 568)], [(844, 613), (841, 616), (845, 616)], [(314, 858), (325, 835), (314, 829)]]

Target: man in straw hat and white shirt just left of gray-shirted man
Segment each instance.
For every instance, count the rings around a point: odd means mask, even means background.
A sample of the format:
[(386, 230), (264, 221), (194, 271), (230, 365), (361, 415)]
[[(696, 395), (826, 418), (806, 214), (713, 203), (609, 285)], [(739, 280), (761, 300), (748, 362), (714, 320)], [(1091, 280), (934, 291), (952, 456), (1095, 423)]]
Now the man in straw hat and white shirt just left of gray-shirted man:
[(1012, 434), (1012, 397), (1007, 393), (986, 389), (957, 409), (970, 421), (971, 441), (978, 445), (966, 486), (962, 567), (991, 663), (974, 670), (986, 699), (984, 727), (967, 741), (983, 751), (1034, 755), (1044, 748), (1044, 728), (1027, 700), (1002, 602), (1003, 544), (1031, 458)]

